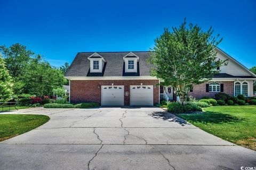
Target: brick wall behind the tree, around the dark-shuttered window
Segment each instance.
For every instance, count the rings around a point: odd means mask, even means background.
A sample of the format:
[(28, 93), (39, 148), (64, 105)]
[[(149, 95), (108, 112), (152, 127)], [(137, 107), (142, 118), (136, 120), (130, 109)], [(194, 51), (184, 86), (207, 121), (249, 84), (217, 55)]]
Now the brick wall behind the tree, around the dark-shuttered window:
[[(223, 84), (223, 93), (227, 93), (232, 96), (234, 95), (234, 82), (218, 83)], [(196, 99), (201, 99), (203, 96), (210, 96), (211, 98), (214, 98), (214, 95), (216, 93), (206, 92), (206, 84), (209, 84), (209, 82), (193, 86), (193, 92), (189, 92), (189, 95), (193, 96)]]

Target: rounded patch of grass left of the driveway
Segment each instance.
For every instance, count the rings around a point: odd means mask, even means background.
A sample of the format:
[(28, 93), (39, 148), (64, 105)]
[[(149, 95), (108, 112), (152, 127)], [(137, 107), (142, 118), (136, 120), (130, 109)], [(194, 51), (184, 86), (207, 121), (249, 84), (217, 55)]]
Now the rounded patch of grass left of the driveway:
[(0, 141), (31, 131), (48, 122), (45, 115), (1, 115), (0, 114)]

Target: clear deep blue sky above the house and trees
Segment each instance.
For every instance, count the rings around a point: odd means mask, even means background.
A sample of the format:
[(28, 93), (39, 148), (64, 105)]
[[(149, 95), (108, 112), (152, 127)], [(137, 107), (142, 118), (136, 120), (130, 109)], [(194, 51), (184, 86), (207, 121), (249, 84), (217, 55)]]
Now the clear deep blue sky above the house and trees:
[(219, 47), (256, 66), (256, 1), (0, 0), (0, 45), (26, 45), (53, 66), (77, 52), (147, 51), (186, 17), (223, 37)]

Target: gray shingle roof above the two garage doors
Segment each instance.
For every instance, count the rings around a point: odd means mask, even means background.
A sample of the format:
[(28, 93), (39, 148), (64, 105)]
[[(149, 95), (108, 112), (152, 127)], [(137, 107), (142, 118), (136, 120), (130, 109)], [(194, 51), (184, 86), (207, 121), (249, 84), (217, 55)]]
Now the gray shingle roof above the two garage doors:
[(85, 76), (150, 76), (151, 64), (146, 62), (149, 58), (149, 52), (133, 52), (139, 56), (138, 71), (124, 72), (123, 57), (130, 52), (97, 52), (105, 60), (105, 66), (102, 73), (90, 73), (90, 60), (87, 58), (94, 52), (79, 52), (71, 63), (65, 76), (67, 77), (85, 77)]

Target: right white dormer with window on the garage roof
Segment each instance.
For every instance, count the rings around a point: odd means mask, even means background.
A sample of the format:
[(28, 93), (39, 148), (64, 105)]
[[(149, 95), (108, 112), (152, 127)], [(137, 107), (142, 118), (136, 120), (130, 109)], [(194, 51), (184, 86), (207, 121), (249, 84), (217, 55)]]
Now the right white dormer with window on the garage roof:
[(125, 72), (137, 72), (139, 56), (135, 55), (133, 52), (130, 52), (123, 57), (123, 60), (125, 64)]

